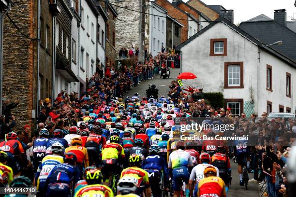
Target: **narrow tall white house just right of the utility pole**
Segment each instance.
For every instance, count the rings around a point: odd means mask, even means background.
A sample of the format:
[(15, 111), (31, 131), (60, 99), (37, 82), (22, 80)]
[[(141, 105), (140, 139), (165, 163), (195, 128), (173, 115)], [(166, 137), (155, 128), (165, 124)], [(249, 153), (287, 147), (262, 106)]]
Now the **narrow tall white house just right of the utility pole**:
[(150, 1), (149, 5), (149, 52), (152, 56), (156, 56), (166, 44), (167, 11), (153, 1)]

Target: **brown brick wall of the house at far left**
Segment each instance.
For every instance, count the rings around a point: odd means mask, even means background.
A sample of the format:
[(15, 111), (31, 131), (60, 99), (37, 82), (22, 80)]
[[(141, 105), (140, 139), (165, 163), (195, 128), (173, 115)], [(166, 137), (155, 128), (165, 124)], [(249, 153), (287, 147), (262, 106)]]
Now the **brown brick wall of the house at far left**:
[[(31, 38), (34, 33), (34, 1), (14, 0), (15, 5), (9, 11), (15, 24)], [(3, 96), (11, 101), (16, 97), (21, 104), (12, 110), (16, 118), (15, 131), (23, 129), (25, 124), (32, 124), (33, 106), (33, 50), (34, 42), (18, 32), (7, 16), (3, 28)], [(35, 48), (36, 49), (36, 48)]]

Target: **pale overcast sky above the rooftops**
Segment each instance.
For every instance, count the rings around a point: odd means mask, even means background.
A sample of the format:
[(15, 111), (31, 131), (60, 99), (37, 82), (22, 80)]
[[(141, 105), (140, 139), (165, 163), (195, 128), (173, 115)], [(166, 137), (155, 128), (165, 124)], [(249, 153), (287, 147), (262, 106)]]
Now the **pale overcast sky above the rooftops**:
[[(184, 0), (187, 1), (187, 0)], [(265, 14), (273, 19), (274, 10), (286, 9), (289, 16), (296, 19), (295, 0), (202, 0), (207, 5), (222, 5), (225, 9), (234, 10), (234, 23), (249, 20), (257, 15)]]

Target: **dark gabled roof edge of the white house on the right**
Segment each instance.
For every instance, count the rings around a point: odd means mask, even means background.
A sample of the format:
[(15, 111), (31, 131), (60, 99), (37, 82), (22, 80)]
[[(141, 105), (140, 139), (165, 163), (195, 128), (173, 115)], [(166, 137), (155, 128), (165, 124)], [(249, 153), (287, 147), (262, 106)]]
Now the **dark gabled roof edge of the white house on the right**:
[(261, 49), (267, 51), (268, 53), (277, 56), (278, 58), (280, 58), (281, 60), (283, 60), (284, 62), (286, 62), (289, 65), (292, 65), (294, 67), (296, 67), (296, 62), (294, 60), (292, 60), (291, 58), (283, 55), (281, 52), (276, 51), (275, 49), (273, 49), (270, 46), (266, 46), (265, 43), (259, 41), (258, 39), (252, 37), (252, 35), (246, 33), (244, 30), (242, 30), (241, 28), (238, 28), (236, 25), (234, 25), (233, 23), (229, 22), (227, 19), (225, 19), (223, 16), (220, 16), (218, 19), (216, 19), (215, 21), (211, 22), (208, 26), (206, 26), (205, 28), (203, 28), (202, 30), (198, 31), (196, 34), (194, 34), (192, 37), (190, 37), (188, 40), (186, 40), (185, 42), (181, 43), (179, 46), (177, 46), (177, 50), (181, 49), (182, 47), (184, 47), (185, 45), (187, 45), (188, 43), (190, 43), (192, 40), (194, 40), (195, 38), (199, 37), (201, 34), (205, 33), (208, 29), (212, 28), (213, 26), (215, 26), (218, 23), (223, 23), (224, 25), (228, 26), (229, 28), (232, 28), (234, 31), (236, 31), (238, 34), (242, 35), (243, 37), (245, 37), (246, 39), (248, 39), (250, 42), (254, 43), (255, 45), (257, 45), (258, 47), (260, 47)]

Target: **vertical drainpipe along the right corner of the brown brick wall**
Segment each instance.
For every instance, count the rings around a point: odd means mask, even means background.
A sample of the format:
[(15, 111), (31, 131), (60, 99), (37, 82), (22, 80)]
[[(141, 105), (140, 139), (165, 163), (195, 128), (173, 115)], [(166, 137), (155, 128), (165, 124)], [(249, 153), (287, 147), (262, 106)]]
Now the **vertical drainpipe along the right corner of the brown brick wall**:
[(40, 56), (40, 0), (38, 0), (38, 10), (37, 10), (37, 21), (38, 21), (38, 28), (37, 28), (37, 38), (38, 38), (38, 44), (37, 44), (37, 99), (36, 99), (36, 120), (38, 117), (38, 109), (39, 109), (39, 95), (40, 95), (40, 76), (39, 76), (39, 72), (40, 72), (40, 62), (39, 62), (39, 56)]

